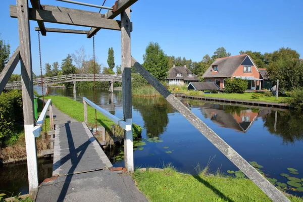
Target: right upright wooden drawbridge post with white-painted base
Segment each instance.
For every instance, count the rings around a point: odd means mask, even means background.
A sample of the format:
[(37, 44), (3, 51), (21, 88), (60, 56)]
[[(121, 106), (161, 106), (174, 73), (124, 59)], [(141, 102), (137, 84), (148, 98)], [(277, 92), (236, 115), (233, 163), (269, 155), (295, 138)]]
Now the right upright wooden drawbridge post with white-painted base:
[[(130, 29), (130, 8), (127, 8), (121, 13), (122, 100), (123, 119), (132, 126)], [(134, 171), (132, 130), (124, 131), (124, 156), (127, 171)]]

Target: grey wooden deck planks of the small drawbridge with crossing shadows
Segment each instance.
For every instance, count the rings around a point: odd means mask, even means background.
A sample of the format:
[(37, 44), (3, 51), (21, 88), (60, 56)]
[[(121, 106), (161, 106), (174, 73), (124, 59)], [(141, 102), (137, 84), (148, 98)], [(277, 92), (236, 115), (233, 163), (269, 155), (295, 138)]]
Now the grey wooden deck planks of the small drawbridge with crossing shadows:
[(56, 128), (53, 176), (112, 167), (84, 122), (58, 124)]

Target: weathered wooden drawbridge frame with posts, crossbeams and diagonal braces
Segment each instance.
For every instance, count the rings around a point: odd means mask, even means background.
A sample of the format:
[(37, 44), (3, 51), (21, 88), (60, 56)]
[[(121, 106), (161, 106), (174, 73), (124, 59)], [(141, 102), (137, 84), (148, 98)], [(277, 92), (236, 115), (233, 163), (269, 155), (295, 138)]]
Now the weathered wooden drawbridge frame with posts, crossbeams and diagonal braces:
[[(32, 133), (35, 126), (34, 104), (33, 104), (33, 78), (29, 20), (38, 23), (36, 30), (46, 35), (47, 31), (62, 33), (86, 34), (87, 38), (92, 37), (100, 29), (111, 29), (121, 31), (121, 52), (122, 52), (122, 98), (123, 98), (123, 119), (132, 125), (132, 100), (131, 100), (131, 65), (167, 100), (173, 105), (193, 126), (195, 126), (205, 137), (207, 137), (233, 164), (235, 164), (249, 179), (259, 186), (273, 201), (289, 201), (288, 198), (273, 186), (254, 167), (245, 161), (231, 146), (221, 139), (203, 121), (196, 117), (186, 108), (173, 94), (171, 94), (155, 77), (146, 71), (135, 59), (131, 58), (130, 32), (130, 6), (137, 0), (119, 0), (115, 3), (115, 12), (109, 10), (106, 14), (95, 12), (40, 5), (39, 0), (30, 0), (32, 8), (28, 6), (28, 0), (17, 0), (17, 6), (10, 6), (11, 17), (18, 18), (19, 43), (20, 46), (12, 55), (9, 63), (0, 74), (0, 93), (3, 91), (8, 79), (14, 71), (19, 60), (21, 61), (22, 77), (22, 98), (24, 129), (26, 140), (27, 167), (29, 192), (31, 198), (35, 198), (38, 190), (38, 171), (36, 139)], [(121, 21), (113, 20), (121, 15)], [(78, 25), (91, 27), (89, 31), (45, 28), (44, 22)], [(125, 167), (128, 171), (134, 170), (133, 165), (133, 141), (132, 131), (124, 133)]]

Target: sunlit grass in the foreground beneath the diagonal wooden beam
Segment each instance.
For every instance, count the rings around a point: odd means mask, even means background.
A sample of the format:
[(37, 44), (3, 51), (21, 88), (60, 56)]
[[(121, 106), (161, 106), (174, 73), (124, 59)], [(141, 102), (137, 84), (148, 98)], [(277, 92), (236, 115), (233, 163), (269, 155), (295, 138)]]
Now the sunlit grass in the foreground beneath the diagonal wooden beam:
[[(221, 175), (189, 175), (173, 168), (133, 173), (137, 187), (149, 201), (272, 201), (257, 185), (245, 178)], [(287, 196), (291, 201), (300, 197)]]

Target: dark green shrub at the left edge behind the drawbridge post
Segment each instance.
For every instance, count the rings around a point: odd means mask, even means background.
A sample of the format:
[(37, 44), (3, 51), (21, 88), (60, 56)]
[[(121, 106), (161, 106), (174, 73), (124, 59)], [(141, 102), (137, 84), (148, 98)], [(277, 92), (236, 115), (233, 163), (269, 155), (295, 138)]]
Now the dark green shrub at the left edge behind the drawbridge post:
[(15, 132), (16, 121), (23, 120), (22, 92), (9, 90), (0, 95), (0, 145)]

